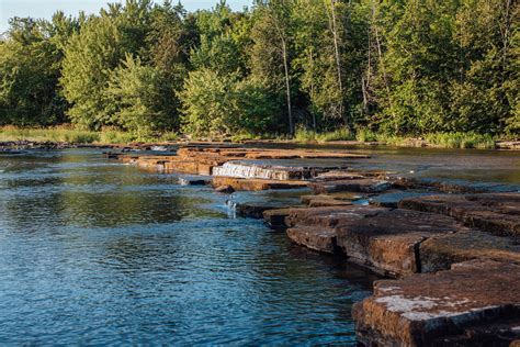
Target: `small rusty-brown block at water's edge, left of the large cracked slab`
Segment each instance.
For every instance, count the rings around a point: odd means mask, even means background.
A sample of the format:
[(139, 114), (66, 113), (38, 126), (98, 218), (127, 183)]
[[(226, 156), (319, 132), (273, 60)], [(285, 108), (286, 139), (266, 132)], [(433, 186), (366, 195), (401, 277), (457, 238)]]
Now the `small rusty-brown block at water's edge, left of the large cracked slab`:
[(336, 231), (334, 228), (298, 226), (287, 228), (292, 242), (309, 249), (334, 254), (336, 249)]

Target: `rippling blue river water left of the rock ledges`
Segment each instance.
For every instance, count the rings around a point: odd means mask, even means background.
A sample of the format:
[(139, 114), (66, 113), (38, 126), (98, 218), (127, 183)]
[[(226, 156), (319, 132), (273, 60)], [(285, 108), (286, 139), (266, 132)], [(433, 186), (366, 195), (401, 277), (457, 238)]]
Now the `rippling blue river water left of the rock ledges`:
[(226, 195), (70, 149), (0, 155), (0, 345), (353, 345), (374, 278)]

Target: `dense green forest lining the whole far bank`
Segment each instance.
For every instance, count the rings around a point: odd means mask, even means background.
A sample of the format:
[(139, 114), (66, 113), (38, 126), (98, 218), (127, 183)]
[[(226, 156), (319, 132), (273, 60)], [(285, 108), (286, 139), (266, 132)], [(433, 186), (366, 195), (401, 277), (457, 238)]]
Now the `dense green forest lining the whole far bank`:
[(512, 0), (263, 0), (13, 18), (0, 125), (194, 136), (518, 134)]

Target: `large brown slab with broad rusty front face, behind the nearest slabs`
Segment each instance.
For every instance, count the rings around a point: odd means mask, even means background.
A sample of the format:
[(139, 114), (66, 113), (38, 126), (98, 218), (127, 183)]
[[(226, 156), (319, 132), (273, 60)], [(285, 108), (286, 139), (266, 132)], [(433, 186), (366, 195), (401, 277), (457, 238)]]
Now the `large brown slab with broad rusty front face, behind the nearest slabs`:
[(403, 277), (421, 272), (419, 246), (429, 237), (464, 231), (454, 219), (417, 211), (392, 210), (343, 221), (337, 244), (350, 261), (375, 272)]

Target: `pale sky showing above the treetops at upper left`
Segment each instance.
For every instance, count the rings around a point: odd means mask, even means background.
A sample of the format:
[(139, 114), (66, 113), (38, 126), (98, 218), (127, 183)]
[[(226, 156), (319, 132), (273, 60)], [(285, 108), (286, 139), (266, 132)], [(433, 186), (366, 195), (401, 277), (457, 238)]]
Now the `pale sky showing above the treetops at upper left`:
[[(121, 1), (121, 0), (120, 0)], [(0, 0), (0, 33), (8, 29), (8, 21), (12, 16), (33, 16), (50, 19), (57, 10), (66, 14), (78, 14), (83, 10), (88, 14), (98, 13), (99, 9), (106, 2), (117, 2), (117, 0)], [(156, 0), (161, 3), (162, 0)], [(177, 2), (177, 1), (172, 1)], [(189, 11), (196, 9), (211, 9), (217, 0), (183, 0), (181, 1)], [(227, 0), (234, 10), (241, 10), (244, 5), (251, 3), (249, 0)]]

